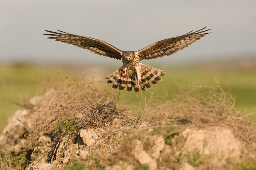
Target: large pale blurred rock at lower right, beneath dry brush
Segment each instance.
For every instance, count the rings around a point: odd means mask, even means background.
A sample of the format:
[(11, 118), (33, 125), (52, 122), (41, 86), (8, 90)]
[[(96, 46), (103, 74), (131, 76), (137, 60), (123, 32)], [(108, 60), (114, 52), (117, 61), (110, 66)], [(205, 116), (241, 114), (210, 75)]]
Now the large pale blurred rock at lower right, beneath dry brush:
[(217, 155), (219, 159), (239, 158), (242, 154), (241, 143), (228, 128), (214, 127), (191, 130), (187, 133), (185, 149), (199, 151), (205, 155)]

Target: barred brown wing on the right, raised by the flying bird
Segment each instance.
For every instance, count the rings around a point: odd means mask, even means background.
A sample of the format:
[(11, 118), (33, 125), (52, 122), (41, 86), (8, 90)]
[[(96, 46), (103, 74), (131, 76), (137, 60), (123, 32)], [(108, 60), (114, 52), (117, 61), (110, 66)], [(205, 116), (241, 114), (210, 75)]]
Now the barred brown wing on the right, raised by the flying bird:
[[(203, 29), (205, 28), (206, 27), (204, 27)], [(196, 40), (199, 40), (201, 37), (204, 37), (204, 35), (209, 34), (203, 32), (209, 31), (211, 29), (205, 31), (201, 30), (198, 30), (193, 33), (191, 33), (191, 31), (187, 34), (184, 34), (183, 36), (158, 41), (154, 44), (149, 45), (148, 47), (143, 48), (142, 50), (138, 50), (135, 53), (139, 56), (140, 61), (145, 59), (155, 59), (166, 55), (172, 55), (174, 53), (177, 53), (179, 50), (183, 50), (184, 48), (188, 47), (190, 44), (196, 42)]]

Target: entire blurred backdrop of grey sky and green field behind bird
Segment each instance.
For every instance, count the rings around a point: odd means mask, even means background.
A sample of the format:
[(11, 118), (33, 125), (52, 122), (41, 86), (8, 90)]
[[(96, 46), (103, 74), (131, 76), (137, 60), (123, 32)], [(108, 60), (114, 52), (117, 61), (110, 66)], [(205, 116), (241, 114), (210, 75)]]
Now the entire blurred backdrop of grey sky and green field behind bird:
[[(1, 0), (0, 2), (0, 130), (8, 117), (34, 95), (40, 83), (60, 74), (78, 78), (104, 78), (122, 61), (96, 55), (70, 44), (46, 39), (44, 30), (93, 37), (120, 50), (142, 49), (156, 41), (197, 31), (207, 26), (212, 34), (169, 57), (141, 61), (167, 75), (151, 92), (177, 91), (174, 80), (192, 84), (200, 76), (213, 76), (222, 88), (231, 87), (236, 107), (249, 112), (256, 106), (256, 1), (255, 0)], [(104, 86), (111, 90), (111, 84)], [(121, 92), (136, 104), (134, 91)], [(17, 105), (18, 104), (18, 105)]]

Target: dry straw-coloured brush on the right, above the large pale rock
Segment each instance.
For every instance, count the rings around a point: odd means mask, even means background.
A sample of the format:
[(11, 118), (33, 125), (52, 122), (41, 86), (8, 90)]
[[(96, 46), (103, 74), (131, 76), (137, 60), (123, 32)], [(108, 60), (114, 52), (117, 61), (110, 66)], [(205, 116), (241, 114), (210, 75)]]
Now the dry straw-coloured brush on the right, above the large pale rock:
[[(175, 120), (177, 129), (170, 133), (182, 132), (187, 128), (207, 128), (211, 126), (227, 127), (243, 143), (246, 151), (256, 154), (254, 144), (255, 110), (241, 116), (235, 108), (235, 99), (231, 94), (231, 86), (227, 92), (221, 88), (215, 78), (208, 78), (212, 84), (198, 81), (194, 84), (179, 84), (178, 91), (170, 101), (159, 101), (158, 109), (154, 113), (157, 120)], [(252, 121), (254, 120), (254, 121)], [(158, 126), (166, 129), (159, 121)], [(167, 136), (169, 134), (166, 134)]]

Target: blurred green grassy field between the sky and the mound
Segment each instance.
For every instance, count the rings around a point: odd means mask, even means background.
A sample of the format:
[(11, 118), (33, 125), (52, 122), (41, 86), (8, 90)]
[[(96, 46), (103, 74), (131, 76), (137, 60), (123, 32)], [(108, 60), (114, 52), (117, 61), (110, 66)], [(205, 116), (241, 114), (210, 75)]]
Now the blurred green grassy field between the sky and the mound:
[[(220, 63), (203, 63), (183, 66), (159, 66), (151, 65), (153, 67), (164, 69), (167, 75), (162, 77), (163, 80), (157, 86), (152, 85), (150, 92), (161, 94), (163, 90), (168, 92), (167, 98), (171, 98), (172, 94), (177, 92), (177, 84), (192, 84), (199, 81), (198, 77), (212, 76), (217, 78), (224, 91), (227, 91), (232, 84), (231, 91), (235, 96), (236, 107), (241, 112), (247, 109), (247, 112), (256, 106), (256, 61), (250, 59), (243, 59), (237, 61), (226, 61)], [(115, 68), (115, 69), (113, 69)], [(113, 68), (93, 68), (81, 67), (80, 73), (84, 69), (87, 74), (84, 78), (88, 79), (96, 76), (99, 86), (105, 85), (104, 78), (114, 72), (118, 66)], [(92, 71), (89, 71), (92, 70)], [(96, 71), (97, 70), (97, 71)], [(94, 72), (95, 71), (95, 72)], [(69, 75), (72, 78), (78, 78), (77, 68), (64, 66), (38, 66), (38, 65), (1, 65), (0, 66), (0, 130), (6, 125), (8, 117), (12, 116), (14, 112), (20, 108), (18, 104), (26, 103), (34, 95), (42, 95), (44, 93), (43, 85), (34, 79), (44, 78), (45, 82), (49, 82), (52, 77), (57, 75), (54, 79), (55, 83), (65, 80)], [(175, 80), (175, 81), (174, 81)], [(206, 83), (213, 83), (210, 77), (200, 78)], [(111, 85), (104, 86), (111, 90)], [(117, 90), (118, 92), (118, 90)], [(147, 92), (148, 93), (148, 92)], [(127, 93), (121, 92), (122, 100), (127, 101), (128, 104), (137, 104), (138, 98), (134, 91)], [(13, 104), (16, 103), (16, 104)]]

